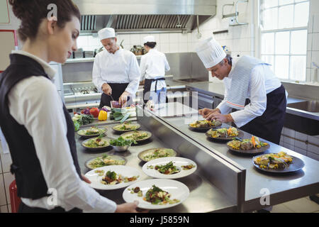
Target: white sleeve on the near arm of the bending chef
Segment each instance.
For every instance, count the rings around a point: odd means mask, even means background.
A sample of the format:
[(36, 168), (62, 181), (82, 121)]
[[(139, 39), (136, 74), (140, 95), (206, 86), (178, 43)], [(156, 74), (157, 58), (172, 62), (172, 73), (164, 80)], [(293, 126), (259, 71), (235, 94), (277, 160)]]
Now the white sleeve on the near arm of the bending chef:
[(258, 65), (252, 70), (250, 79), (250, 104), (242, 111), (231, 114), (238, 128), (262, 116), (267, 108), (267, 92), (264, 84), (264, 68)]

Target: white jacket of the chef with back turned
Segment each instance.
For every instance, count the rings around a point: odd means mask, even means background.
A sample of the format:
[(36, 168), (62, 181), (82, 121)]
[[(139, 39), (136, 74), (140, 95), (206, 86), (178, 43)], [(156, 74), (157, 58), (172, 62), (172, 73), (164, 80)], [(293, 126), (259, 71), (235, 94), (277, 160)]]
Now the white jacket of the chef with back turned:
[[(165, 76), (165, 71), (169, 71), (169, 63), (164, 53), (156, 49), (150, 49), (146, 55), (140, 59), (140, 74), (143, 79), (159, 79)], [(155, 91), (156, 82), (152, 82), (150, 91)], [(166, 87), (164, 80), (157, 81), (157, 90)]]

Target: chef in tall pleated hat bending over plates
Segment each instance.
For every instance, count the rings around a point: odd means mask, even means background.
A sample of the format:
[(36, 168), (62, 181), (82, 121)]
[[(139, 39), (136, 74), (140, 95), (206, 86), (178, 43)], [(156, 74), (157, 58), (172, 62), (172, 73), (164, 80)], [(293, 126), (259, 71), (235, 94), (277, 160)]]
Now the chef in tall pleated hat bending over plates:
[(207, 120), (233, 122), (242, 131), (279, 144), (286, 91), (269, 65), (250, 56), (232, 58), (213, 38), (199, 43), (196, 52), (212, 77), (225, 84), (225, 99), (216, 109), (199, 114)]

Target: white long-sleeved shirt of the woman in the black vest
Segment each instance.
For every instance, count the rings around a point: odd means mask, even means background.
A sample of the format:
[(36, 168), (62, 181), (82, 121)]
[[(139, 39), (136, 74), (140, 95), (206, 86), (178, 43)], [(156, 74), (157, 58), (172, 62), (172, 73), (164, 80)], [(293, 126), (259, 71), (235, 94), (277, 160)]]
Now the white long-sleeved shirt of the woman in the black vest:
[[(12, 53), (33, 58), (53, 79), (55, 70), (47, 62), (21, 50)], [(25, 126), (33, 138), (47, 188), (57, 190), (57, 206), (66, 211), (77, 207), (87, 212), (114, 212), (116, 203), (89, 187), (75, 170), (63, 103), (52, 81), (45, 77), (28, 77), (11, 89), (8, 98), (11, 116)], [(47, 196), (35, 200), (21, 198), (27, 206), (53, 209), (55, 206), (50, 206), (47, 199)]]

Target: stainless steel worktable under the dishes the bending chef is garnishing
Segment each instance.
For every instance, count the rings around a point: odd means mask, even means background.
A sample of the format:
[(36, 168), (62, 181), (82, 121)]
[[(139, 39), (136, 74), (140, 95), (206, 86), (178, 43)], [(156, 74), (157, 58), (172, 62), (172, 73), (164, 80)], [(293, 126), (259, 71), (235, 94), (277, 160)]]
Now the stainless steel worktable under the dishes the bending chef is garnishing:
[[(199, 119), (201, 119), (198, 116)], [(252, 156), (241, 155), (228, 150), (225, 143), (213, 143), (209, 140), (205, 133), (198, 133), (191, 131), (187, 121), (187, 118), (165, 118), (171, 126), (178, 128), (179, 131), (188, 135), (189, 138), (193, 138), (195, 141), (213, 150), (214, 153), (219, 153), (236, 162), (246, 169), (246, 184), (245, 184), (245, 202), (244, 211), (252, 211), (254, 209), (260, 209), (259, 199), (264, 194), (261, 193), (261, 189), (269, 189), (270, 203), (271, 205), (281, 204), (285, 201), (291, 201), (293, 199), (301, 198), (302, 196), (308, 196), (319, 192), (319, 162), (309, 157), (300, 155), (288, 150), (274, 143), (269, 143), (270, 148), (266, 153), (278, 153), (284, 151), (289, 155), (293, 155), (301, 158), (305, 163), (305, 167), (298, 172), (286, 175), (276, 175), (261, 172), (257, 170), (252, 164)], [(224, 125), (229, 127), (228, 125)], [(245, 133), (244, 138), (250, 138), (249, 133)]]

